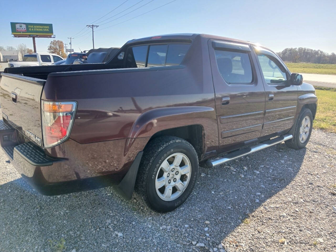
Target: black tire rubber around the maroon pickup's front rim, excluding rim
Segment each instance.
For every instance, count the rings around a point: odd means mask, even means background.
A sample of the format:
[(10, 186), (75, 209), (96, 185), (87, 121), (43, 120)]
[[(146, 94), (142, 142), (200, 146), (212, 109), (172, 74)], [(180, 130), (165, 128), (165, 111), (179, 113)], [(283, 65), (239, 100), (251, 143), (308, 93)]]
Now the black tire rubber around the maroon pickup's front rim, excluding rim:
[[(303, 118), (305, 118), (306, 116), (308, 116), (309, 119), (310, 119), (310, 129), (309, 129), (308, 137), (302, 143), (300, 141), (300, 126), (301, 126), (301, 122), (302, 122)], [(309, 141), (312, 128), (313, 128), (313, 115), (311, 114), (311, 111), (309, 109), (302, 109), (299, 116), (298, 116), (296, 124), (295, 124), (295, 131), (294, 131), (294, 134), (293, 134), (293, 138), (285, 141), (285, 144), (289, 148), (292, 148), (292, 149), (295, 149), (295, 150), (300, 150), (300, 149), (304, 148)]]

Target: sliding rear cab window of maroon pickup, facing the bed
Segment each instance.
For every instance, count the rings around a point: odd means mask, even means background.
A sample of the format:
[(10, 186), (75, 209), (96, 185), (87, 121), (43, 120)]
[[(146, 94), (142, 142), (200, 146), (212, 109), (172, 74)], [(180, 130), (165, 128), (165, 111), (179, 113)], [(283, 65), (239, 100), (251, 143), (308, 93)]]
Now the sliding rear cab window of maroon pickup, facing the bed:
[(164, 43), (132, 46), (127, 50), (126, 67), (179, 66), (190, 47), (186, 43)]

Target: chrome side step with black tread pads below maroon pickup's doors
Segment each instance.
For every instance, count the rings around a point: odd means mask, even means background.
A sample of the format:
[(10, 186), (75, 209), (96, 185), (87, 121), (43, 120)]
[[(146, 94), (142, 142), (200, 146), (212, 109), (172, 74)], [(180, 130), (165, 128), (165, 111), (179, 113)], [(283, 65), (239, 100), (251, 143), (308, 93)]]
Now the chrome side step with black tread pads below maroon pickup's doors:
[[(278, 137), (277, 137), (278, 138)], [(293, 138), (292, 135), (290, 134), (286, 134), (286, 135), (283, 135), (283, 136), (279, 136), (279, 140), (276, 140), (276, 138), (271, 139), (271, 140), (266, 140), (264, 142), (261, 142), (261, 143), (258, 143), (254, 146), (251, 146), (251, 150), (249, 152), (245, 152), (243, 154), (238, 154), (237, 156), (234, 156), (232, 157), (232, 154), (233, 153), (229, 153), (227, 155), (224, 155), (223, 157), (221, 158), (216, 158), (216, 159), (213, 159), (213, 160), (208, 160), (206, 162), (206, 166), (211, 168), (211, 167), (214, 167), (214, 166), (218, 166), (218, 165), (221, 165), (221, 164), (224, 164), (226, 162), (229, 162), (229, 161), (232, 161), (232, 160), (235, 160), (237, 158), (240, 158), (240, 157), (243, 157), (243, 156), (246, 156), (246, 155), (249, 155), (249, 154), (252, 154), (254, 152), (257, 152), (257, 151), (260, 151), (262, 149), (265, 149), (265, 148), (268, 148), (270, 146), (273, 146), (273, 145), (276, 145), (278, 143), (281, 143), (283, 141), (286, 141), (286, 140), (289, 140)], [(272, 141), (273, 140), (273, 141)], [(239, 151), (239, 150), (238, 150)], [(238, 152), (237, 151), (237, 152)], [(231, 155), (230, 155), (231, 154)], [(226, 156), (226, 157), (225, 157)]]

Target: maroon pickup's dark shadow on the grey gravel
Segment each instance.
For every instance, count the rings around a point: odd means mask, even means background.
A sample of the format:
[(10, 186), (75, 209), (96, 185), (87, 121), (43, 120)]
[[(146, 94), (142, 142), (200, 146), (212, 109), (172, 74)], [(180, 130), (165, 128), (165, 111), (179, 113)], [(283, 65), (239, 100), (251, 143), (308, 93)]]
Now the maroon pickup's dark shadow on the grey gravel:
[(49, 239), (64, 238), (66, 251), (189, 251), (193, 247), (209, 251), (237, 226), (248, 225), (250, 214), (281, 193), (299, 172), (305, 153), (306, 149), (295, 151), (279, 144), (226, 166), (200, 167), (190, 197), (169, 213), (143, 208), (134, 196), (125, 201), (111, 187), (43, 196), (19, 178), (1, 185), (0, 250), (30, 251), (37, 246), (49, 251)]

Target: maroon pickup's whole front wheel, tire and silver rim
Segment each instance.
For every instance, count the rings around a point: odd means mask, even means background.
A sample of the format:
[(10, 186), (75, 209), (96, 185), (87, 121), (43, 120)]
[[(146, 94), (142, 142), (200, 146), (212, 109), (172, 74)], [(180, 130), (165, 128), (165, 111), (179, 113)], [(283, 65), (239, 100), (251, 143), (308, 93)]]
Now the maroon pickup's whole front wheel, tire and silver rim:
[(313, 116), (309, 109), (303, 109), (295, 125), (293, 138), (285, 141), (285, 144), (295, 150), (304, 148), (310, 138), (313, 126)]

